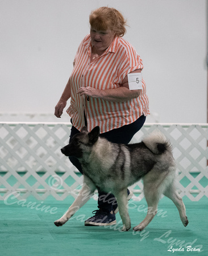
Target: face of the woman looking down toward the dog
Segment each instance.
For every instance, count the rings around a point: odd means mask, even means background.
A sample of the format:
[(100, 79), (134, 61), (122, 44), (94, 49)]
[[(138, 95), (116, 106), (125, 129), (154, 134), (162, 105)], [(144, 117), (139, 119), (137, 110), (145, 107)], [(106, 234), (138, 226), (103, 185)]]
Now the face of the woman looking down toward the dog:
[(112, 30), (95, 30), (90, 28), (91, 43), (97, 51), (105, 51), (115, 38)]

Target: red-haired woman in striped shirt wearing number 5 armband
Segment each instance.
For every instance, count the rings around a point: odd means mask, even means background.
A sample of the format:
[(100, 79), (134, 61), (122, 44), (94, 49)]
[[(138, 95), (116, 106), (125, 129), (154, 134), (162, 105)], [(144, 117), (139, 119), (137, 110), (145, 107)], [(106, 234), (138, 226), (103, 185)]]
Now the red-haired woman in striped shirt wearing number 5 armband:
[[(85, 125), (89, 131), (99, 126), (101, 137), (128, 144), (149, 114), (144, 80), (140, 81), (140, 87), (131, 89), (132, 84), (139, 83), (142, 59), (122, 38), (126, 21), (118, 10), (101, 7), (91, 12), (89, 22), (90, 35), (78, 47), (72, 74), (55, 107), (55, 115), (61, 117), (70, 98), (66, 110), (72, 122), (70, 139)], [(135, 81), (131, 84), (132, 74)], [(78, 159), (69, 159), (82, 173)], [(98, 192), (98, 210), (85, 225), (113, 225), (118, 212), (115, 197)], [(127, 193), (130, 199), (130, 191)]]

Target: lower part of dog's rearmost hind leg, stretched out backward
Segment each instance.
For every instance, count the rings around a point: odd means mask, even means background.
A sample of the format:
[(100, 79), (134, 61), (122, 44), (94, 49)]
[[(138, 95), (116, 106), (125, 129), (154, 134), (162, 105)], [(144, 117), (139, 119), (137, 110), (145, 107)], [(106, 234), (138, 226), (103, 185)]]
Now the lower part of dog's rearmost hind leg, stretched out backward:
[(163, 194), (164, 196), (167, 196), (170, 200), (173, 201), (173, 203), (176, 205), (178, 212), (180, 214), (182, 224), (184, 226), (187, 226), (189, 221), (186, 216), (186, 208), (185, 208), (184, 202), (182, 201), (182, 198), (180, 197), (180, 195), (178, 195), (178, 192), (176, 191), (174, 184), (171, 184)]

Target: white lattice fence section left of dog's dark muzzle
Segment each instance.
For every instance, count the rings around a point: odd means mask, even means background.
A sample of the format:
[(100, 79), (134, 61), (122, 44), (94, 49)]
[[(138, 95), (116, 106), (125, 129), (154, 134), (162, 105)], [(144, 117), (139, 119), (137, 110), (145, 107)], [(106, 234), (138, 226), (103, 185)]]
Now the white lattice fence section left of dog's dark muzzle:
[[(48, 195), (63, 200), (82, 184), (82, 177), (60, 151), (69, 141), (69, 125), (2, 124), (0, 134), (3, 198), (19, 191), (19, 199), (32, 194), (39, 200)], [(73, 181), (70, 186), (65, 183), (69, 177)]]

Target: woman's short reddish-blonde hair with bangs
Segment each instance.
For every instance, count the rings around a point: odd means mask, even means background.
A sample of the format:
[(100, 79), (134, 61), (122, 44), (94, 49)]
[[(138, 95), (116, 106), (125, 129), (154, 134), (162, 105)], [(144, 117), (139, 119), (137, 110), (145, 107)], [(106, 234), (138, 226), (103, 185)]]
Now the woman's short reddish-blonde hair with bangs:
[(116, 9), (110, 7), (100, 7), (91, 11), (90, 26), (95, 30), (112, 30), (115, 36), (123, 36), (126, 33), (126, 20)]

